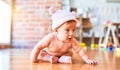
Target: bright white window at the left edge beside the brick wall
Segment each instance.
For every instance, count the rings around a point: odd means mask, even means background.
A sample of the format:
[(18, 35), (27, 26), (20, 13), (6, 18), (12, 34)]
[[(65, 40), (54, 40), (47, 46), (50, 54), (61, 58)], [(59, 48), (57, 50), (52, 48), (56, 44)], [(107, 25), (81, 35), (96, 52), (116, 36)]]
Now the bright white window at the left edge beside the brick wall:
[(11, 7), (0, 0), (0, 44), (10, 44)]

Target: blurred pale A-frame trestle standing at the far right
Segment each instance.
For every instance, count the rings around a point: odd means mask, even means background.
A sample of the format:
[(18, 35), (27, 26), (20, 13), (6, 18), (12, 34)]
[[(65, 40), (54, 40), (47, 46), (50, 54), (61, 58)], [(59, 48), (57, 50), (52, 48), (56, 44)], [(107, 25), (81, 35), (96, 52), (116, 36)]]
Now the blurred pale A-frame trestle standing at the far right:
[(102, 32), (102, 35), (99, 40), (99, 46), (101, 44), (102, 44), (102, 47), (105, 47), (105, 48), (108, 47), (108, 45), (111, 46), (112, 44), (114, 44), (114, 47), (119, 46), (119, 40), (116, 36), (115, 25), (113, 25), (112, 22), (107, 21), (106, 25), (103, 26), (103, 30), (105, 30), (105, 29), (106, 29), (106, 34), (105, 34), (105, 36), (103, 36), (103, 32)]

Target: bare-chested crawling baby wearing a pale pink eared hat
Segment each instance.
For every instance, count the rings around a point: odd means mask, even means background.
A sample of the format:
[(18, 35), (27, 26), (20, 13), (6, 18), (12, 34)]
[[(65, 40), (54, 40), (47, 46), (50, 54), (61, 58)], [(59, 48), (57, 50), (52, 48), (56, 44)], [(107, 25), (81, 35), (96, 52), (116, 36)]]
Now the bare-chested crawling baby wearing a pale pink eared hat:
[(88, 64), (96, 64), (89, 59), (79, 42), (74, 38), (77, 25), (75, 15), (69, 11), (49, 8), (52, 15), (53, 32), (37, 43), (31, 53), (32, 62), (72, 63), (72, 51), (75, 50)]

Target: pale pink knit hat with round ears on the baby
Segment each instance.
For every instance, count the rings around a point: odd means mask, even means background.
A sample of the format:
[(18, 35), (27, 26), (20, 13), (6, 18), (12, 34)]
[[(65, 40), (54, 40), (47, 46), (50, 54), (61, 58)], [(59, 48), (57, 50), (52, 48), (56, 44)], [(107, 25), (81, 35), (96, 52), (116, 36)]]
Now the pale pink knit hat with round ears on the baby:
[(55, 8), (50, 7), (49, 13), (52, 15), (52, 30), (55, 30), (69, 20), (75, 20), (77, 22), (76, 16), (70, 11), (56, 10)]

